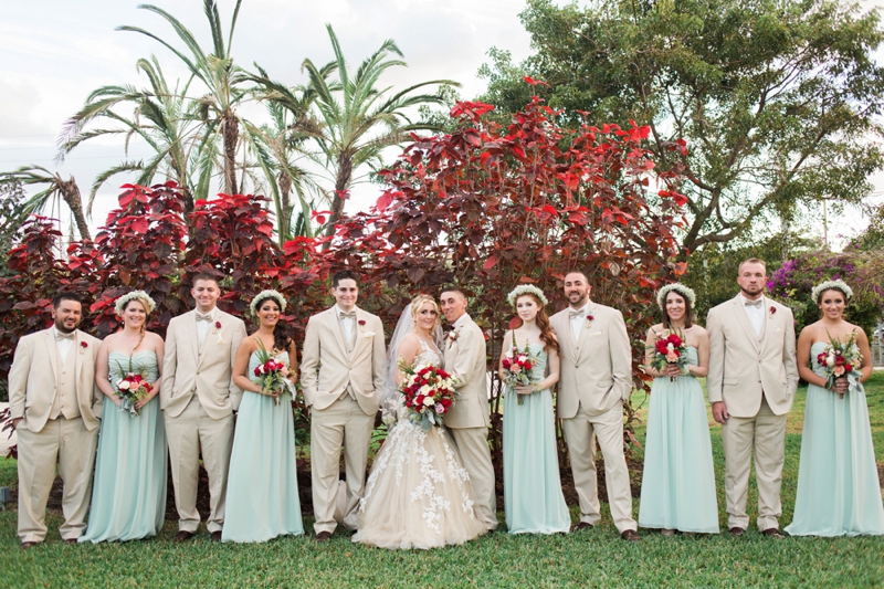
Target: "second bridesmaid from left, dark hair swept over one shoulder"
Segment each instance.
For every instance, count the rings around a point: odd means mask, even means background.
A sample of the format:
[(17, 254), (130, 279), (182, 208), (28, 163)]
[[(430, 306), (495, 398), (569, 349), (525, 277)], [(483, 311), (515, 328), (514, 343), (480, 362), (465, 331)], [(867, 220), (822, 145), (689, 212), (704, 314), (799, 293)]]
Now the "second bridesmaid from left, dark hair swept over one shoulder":
[[(263, 291), (252, 301), (251, 309), (257, 318), (257, 332), (242, 340), (233, 361), (233, 383), (244, 392), (228, 475), (227, 502), (232, 508), (228, 509), (222, 541), (266, 541), (304, 534), (291, 392), (295, 390), (297, 353), (280, 318), (285, 298), (276, 291)], [(255, 383), (254, 370), (261, 364), (259, 341), (287, 367), (292, 386), (281, 395), (262, 395)]]

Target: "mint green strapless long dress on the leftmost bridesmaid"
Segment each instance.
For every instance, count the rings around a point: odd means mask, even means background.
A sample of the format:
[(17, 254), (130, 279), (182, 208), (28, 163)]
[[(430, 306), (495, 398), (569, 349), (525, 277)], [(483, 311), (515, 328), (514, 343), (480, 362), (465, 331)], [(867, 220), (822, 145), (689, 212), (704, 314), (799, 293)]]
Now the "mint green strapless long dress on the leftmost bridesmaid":
[[(129, 356), (108, 355), (110, 385), (128, 372)], [(141, 371), (148, 382), (159, 376), (157, 356), (151, 350), (131, 355), (133, 371)], [(86, 534), (80, 541), (137, 540), (156, 536), (166, 515), (166, 470), (168, 446), (159, 399), (155, 397), (138, 416), (120, 411), (104, 400), (95, 460), (95, 483)]]

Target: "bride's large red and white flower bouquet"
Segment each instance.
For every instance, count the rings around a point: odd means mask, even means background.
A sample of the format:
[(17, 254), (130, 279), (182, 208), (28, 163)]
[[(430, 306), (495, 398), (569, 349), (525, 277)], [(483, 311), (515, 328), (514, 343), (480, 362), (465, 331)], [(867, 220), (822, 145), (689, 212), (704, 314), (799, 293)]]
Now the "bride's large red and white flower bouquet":
[(406, 408), (411, 420), (423, 431), (442, 425), (442, 420), (454, 404), (454, 383), (448, 372), (432, 364), (406, 364), (399, 359), (399, 369), (406, 378), (399, 391), (406, 397)]

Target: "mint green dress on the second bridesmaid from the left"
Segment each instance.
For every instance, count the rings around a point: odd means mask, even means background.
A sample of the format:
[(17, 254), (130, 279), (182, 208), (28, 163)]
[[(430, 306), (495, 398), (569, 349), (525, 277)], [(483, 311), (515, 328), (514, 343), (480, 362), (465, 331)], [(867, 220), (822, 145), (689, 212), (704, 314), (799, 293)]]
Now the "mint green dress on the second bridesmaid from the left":
[[(276, 359), (288, 366), (287, 353)], [(255, 351), (249, 358), (250, 378), (259, 364)], [(253, 543), (302, 534), (292, 396), (283, 393), (277, 406), (273, 397), (244, 391), (233, 434), (221, 540)]]

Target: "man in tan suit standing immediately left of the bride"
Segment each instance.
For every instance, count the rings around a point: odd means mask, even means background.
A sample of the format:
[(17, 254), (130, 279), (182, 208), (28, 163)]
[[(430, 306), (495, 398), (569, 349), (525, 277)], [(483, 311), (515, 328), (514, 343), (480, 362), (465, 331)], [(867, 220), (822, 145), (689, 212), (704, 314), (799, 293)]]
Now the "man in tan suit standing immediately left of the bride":
[(359, 282), (352, 272), (332, 277), (336, 304), (309, 318), (301, 361), (301, 385), (311, 412), (313, 527), (317, 541), (337, 524), (340, 448), (347, 470), (344, 525), (356, 529), (368, 445), (375, 429), (387, 359), (380, 318), (358, 308)]

